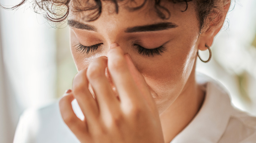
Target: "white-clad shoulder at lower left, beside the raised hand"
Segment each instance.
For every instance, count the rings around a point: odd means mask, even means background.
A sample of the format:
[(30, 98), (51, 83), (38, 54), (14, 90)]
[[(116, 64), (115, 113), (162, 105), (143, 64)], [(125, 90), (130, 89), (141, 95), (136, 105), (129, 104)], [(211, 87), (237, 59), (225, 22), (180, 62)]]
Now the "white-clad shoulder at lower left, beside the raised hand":
[(14, 143), (78, 142), (63, 122), (58, 103), (38, 109), (28, 109), (20, 117)]

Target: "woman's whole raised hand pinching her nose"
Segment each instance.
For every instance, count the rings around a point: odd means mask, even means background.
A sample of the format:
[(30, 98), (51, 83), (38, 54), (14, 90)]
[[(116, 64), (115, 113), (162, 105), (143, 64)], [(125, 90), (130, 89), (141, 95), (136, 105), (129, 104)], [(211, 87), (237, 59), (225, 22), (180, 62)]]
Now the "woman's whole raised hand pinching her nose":
[[(59, 101), (64, 122), (82, 143), (163, 143), (159, 113), (143, 76), (118, 45), (112, 44), (107, 56), (76, 74), (73, 91)], [(118, 98), (105, 76), (106, 68)], [(72, 109), (74, 98), (84, 120)]]

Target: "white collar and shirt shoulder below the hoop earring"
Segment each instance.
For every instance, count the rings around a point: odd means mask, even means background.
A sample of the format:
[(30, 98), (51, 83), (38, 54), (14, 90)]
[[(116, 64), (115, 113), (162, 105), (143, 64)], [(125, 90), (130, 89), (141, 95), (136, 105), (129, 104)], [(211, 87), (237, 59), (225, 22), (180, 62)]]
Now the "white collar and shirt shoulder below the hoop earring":
[(203, 105), (172, 143), (256, 143), (256, 118), (232, 106), (220, 82), (202, 74), (197, 81), (206, 93)]

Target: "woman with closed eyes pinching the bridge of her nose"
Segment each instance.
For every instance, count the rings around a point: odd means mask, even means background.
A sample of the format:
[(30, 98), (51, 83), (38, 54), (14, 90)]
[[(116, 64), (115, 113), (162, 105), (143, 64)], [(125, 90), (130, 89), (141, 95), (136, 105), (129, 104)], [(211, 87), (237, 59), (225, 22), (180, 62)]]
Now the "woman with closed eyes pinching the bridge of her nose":
[[(67, 12), (56, 18), (48, 3)], [(38, 5), (51, 21), (68, 19), (78, 73), (60, 112), (53, 105), (25, 113), (14, 142), (256, 142), (256, 119), (195, 72), (199, 50), (210, 52), (203, 62), (211, 58), (230, 0)]]

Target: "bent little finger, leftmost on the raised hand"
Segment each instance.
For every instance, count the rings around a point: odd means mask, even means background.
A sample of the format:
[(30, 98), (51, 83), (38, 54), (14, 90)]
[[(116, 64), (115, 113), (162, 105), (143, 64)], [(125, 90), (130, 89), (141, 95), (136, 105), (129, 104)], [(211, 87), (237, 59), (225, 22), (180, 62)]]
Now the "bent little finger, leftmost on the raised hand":
[(76, 137), (83, 138), (88, 136), (87, 127), (85, 121), (80, 120), (74, 113), (71, 102), (74, 100), (72, 92), (64, 94), (59, 100), (59, 109), (62, 119), (70, 128), (70, 130), (76, 135)]

